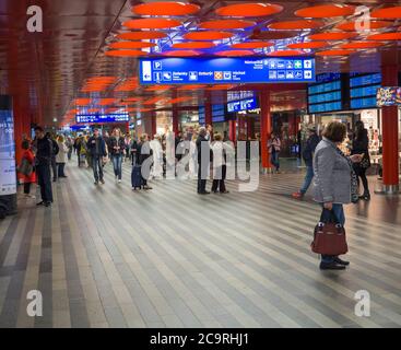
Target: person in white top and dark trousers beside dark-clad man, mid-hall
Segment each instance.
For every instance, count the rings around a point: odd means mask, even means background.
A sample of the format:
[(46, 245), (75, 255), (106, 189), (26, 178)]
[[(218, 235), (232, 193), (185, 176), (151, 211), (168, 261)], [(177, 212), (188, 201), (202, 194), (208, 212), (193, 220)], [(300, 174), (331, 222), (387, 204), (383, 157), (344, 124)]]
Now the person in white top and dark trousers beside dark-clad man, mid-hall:
[(214, 141), (212, 143), (213, 150), (213, 185), (212, 192), (228, 194), (225, 188), (225, 176), (227, 172), (226, 167), (226, 150), (223, 143), (223, 136), (221, 133), (214, 135)]

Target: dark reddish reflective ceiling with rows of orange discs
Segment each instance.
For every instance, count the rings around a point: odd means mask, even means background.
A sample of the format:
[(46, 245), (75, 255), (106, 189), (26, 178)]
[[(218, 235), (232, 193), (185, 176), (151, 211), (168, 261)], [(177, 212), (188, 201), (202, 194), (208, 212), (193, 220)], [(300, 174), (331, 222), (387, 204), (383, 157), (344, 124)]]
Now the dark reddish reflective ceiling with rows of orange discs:
[[(71, 122), (80, 104), (93, 97), (109, 98), (93, 110), (121, 104), (132, 113), (193, 107), (205, 98), (224, 100), (231, 89), (285, 86), (145, 88), (138, 83), (139, 58), (310, 55), (317, 72), (370, 72), (380, 69), (384, 52), (398, 55), (401, 39), (401, 10), (386, 11), (397, 1), (255, 1), (253, 9), (241, 8), (253, 3), (244, 0), (149, 5), (154, 2), (160, 1), (1, 0), (0, 93), (14, 96), (27, 122), (46, 125)], [(304, 10), (322, 4), (328, 8)], [(42, 33), (26, 28), (30, 5), (43, 10)], [(355, 31), (358, 5), (369, 9), (369, 30)], [(215, 38), (199, 40), (205, 32)]]

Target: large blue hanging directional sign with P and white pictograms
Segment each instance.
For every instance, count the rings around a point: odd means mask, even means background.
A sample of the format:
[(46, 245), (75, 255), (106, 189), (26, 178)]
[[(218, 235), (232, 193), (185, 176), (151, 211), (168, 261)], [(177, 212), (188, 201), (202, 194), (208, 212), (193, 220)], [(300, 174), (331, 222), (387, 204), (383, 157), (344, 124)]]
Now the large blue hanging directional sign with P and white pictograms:
[(315, 59), (149, 58), (140, 60), (141, 84), (315, 82)]

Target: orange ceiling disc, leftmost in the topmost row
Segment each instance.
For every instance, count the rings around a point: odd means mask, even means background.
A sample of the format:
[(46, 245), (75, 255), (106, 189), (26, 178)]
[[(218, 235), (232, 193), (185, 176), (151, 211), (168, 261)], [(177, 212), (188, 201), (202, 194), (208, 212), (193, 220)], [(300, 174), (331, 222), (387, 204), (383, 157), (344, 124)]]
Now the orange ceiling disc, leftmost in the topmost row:
[(197, 13), (200, 7), (185, 2), (150, 2), (141, 3), (132, 8), (132, 12), (139, 15), (189, 15)]

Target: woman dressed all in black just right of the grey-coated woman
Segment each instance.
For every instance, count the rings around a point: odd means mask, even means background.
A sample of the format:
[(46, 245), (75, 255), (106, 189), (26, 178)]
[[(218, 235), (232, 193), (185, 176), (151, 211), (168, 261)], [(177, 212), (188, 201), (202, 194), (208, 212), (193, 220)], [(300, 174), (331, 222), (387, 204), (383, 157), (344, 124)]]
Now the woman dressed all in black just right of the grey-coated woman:
[(369, 156), (369, 138), (367, 135), (367, 130), (365, 129), (364, 122), (362, 120), (356, 121), (355, 124), (355, 136), (352, 140), (352, 149), (351, 154), (363, 154), (363, 159), (361, 163), (354, 164), (354, 171), (357, 176), (358, 186), (359, 178), (364, 186), (364, 192), (359, 196), (359, 199), (370, 200), (369, 185), (366, 177), (366, 171), (370, 166), (370, 156)]

